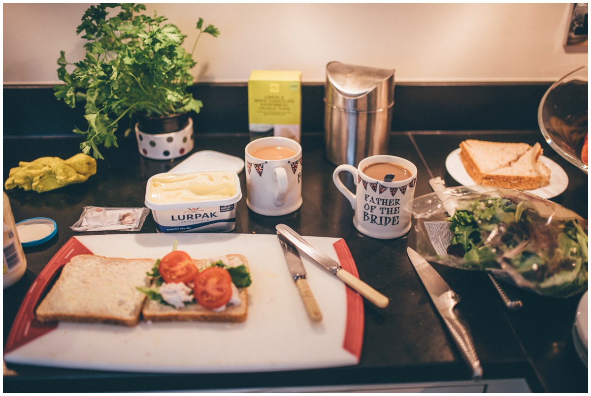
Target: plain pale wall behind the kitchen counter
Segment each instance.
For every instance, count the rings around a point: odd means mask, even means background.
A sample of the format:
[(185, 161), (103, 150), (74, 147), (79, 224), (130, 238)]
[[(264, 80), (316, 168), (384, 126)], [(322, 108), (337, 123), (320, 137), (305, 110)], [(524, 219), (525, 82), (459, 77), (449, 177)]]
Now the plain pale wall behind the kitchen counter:
[[(4, 83), (57, 82), (60, 50), (83, 58), (76, 27), (88, 4), (4, 4)], [(187, 50), (199, 17), (197, 81), (240, 82), (251, 70), (300, 70), (323, 81), (329, 61), (395, 68), (397, 81), (554, 81), (587, 64), (566, 53), (571, 4), (147, 4), (178, 25)], [(114, 14), (114, 13), (113, 13)]]

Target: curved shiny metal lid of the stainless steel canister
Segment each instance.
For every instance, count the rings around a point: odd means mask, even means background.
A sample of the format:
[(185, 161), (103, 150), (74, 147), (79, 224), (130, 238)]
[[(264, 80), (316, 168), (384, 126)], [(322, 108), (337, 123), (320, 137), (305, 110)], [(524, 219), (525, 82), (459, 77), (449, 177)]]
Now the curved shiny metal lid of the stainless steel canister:
[(394, 104), (394, 70), (330, 62), (326, 65), (324, 101), (344, 110), (387, 109)]

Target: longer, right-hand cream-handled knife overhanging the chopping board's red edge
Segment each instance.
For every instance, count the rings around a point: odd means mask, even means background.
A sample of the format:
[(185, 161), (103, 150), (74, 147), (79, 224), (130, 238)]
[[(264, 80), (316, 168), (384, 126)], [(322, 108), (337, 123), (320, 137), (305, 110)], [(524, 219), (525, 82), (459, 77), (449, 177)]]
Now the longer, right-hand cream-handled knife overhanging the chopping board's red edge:
[(390, 302), (388, 297), (378, 292), (369, 284), (363, 282), (361, 279), (356, 278), (351, 273), (343, 270), (339, 263), (324, 254), (318, 248), (312, 246), (300, 234), (292, 230), (285, 224), (278, 224), (275, 229), (283, 235), (288, 241), (293, 243), (298, 249), (310, 256), (314, 261), (322, 265), (324, 268), (336, 275), (337, 278), (348, 284), (353, 290), (361, 294), (363, 297), (368, 299), (374, 305), (384, 308), (388, 306)]

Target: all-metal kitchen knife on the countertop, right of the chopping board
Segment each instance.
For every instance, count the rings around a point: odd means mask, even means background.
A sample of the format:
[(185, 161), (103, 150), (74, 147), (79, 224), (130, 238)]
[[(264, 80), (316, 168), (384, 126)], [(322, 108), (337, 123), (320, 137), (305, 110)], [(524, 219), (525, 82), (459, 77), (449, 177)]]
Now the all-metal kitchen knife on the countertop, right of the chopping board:
[(475, 379), (482, 378), (482, 366), (476, 354), (470, 330), (463, 320), (456, 315), (456, 312), (454, 312), (454, 307), (459, 302), (460, 297), (420, 254), (410, 247), (407, 248), (407, 254), (411, 263), (413, 263), (414, 269), (417, 271), (418, 277), (423, 282), (425, 289), (427, 289), (427, 293), (431, 297), (437, 312), (439, 312), (439, 315), (449, 329), (453, 341), (460, 350), (460, 354), (462, 354), (462, 357), (472, 369), (472, 377)]

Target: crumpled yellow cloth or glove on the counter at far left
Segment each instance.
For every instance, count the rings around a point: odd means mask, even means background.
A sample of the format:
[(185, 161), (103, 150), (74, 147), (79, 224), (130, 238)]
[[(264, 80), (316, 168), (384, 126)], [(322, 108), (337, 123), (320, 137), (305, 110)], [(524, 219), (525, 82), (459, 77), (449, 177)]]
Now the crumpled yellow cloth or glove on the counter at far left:
[(83, 153), (65, 161), (58, 157), (41, 157), (33, 162), (19, 162), (4, 184), (6, 189), (19, 186), (24, 190), (51, 191), (73, 183), (85, 182), (96, 174), (96, 160)]

